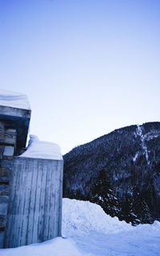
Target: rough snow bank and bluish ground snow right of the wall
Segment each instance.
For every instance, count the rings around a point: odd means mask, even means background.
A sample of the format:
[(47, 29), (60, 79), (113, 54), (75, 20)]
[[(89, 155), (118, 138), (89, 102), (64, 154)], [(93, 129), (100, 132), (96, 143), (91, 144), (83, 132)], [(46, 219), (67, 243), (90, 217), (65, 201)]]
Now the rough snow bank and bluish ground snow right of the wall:
[(96, 204), (64, 198), (62, 224), (82, 255), (160, 256), (160, 222), (130, 226)]

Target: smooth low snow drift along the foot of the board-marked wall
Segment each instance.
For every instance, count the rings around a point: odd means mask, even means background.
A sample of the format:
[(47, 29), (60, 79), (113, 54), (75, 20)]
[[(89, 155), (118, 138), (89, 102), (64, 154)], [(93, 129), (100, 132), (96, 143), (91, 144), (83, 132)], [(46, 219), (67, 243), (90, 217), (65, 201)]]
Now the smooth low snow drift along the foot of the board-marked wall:
[(71, 239), (54, 238), (47, 242), (0, 249), (0, 256), (82, 256)]

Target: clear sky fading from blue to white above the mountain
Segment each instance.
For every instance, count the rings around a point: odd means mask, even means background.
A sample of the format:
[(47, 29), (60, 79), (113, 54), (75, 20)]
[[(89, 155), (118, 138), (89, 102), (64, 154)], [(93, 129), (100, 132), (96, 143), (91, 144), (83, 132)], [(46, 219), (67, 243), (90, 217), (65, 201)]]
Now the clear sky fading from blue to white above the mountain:
[(159, 0), (0, 0), (0, 87), (30, 133), (74, 146), (160, 121)]

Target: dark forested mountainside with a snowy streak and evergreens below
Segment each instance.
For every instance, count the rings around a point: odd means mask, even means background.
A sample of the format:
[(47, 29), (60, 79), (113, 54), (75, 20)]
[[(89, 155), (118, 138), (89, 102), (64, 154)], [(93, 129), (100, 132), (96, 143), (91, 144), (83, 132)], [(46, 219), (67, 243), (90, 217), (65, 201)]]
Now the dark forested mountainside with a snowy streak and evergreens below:
[(127, 126), (64, 155), (63, 196), (120, 220), (160, 220), (160, 122)]

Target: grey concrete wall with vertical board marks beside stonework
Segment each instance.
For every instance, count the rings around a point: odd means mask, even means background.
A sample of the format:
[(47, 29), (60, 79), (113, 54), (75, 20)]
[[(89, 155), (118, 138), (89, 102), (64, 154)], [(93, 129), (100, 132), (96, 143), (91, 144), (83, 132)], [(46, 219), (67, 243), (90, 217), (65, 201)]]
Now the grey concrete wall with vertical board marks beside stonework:
[(14, 158), (4, 247), (61, 236), (62, 160)]

